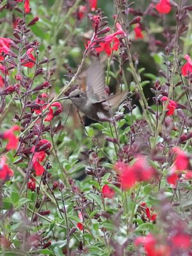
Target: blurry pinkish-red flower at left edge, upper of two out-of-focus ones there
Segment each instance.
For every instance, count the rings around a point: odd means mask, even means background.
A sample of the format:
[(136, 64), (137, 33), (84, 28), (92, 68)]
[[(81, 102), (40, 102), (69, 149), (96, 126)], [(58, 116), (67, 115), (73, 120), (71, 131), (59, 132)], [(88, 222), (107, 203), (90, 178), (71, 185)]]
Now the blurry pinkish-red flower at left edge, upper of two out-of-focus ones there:
[(8, 131), (3, 133), (3, 139), (8, 140), (8, 143), (6, 145), (7, 150), (17, 149), (19, 139), (13, 133), (15, 131), (20, 131), (19, 125), (13, 125), (12, 128), (8, 129)]

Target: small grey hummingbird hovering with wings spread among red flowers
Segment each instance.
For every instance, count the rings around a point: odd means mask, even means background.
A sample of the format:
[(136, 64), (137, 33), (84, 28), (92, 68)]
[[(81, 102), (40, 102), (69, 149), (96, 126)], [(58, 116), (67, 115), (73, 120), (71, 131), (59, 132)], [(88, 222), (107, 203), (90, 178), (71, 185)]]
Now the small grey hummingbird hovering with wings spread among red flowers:
[[(68, 97), (84, 115), (100, 122), (111, 118), (110, 108), (118, 107), (128, 97), (127, 92), (108, 96), (105, 90), (104, 72), (99, 62), (93, 62), (86, 74), (86, 92), (76, 89)], [(60, 99), (61, 100), (61, 99)]]

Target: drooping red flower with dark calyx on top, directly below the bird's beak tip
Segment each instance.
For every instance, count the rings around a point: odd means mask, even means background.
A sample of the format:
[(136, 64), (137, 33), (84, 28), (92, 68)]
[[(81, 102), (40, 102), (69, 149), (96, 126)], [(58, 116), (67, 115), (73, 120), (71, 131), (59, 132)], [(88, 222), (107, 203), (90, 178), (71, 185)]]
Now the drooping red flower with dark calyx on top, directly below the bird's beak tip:
[(51, 142), (48, 140), (40, 140), (36, 147), (33, 146), (31, 148), (31, 152), (35, 152), (33, 155), (32, 163), (33, 163), (33, 168), (35, 170), (35, 173), (37, 176), (40, 176), (44, 173), (44, 166), (40, 164), (40, 162), (44, 161), (45, 158), (45, 150), (51, 148)]

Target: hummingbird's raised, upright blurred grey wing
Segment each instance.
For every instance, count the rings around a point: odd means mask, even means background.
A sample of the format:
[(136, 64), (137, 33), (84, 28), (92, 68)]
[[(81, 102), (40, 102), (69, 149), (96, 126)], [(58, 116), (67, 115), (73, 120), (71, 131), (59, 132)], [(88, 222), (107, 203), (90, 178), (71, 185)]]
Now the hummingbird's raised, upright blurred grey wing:
[(104, 71), (98, 61), (93, 62), (90, 68), (88, 68), (86, 82), (86, 94), (93, 104), (103, 102), (107, 99)]

